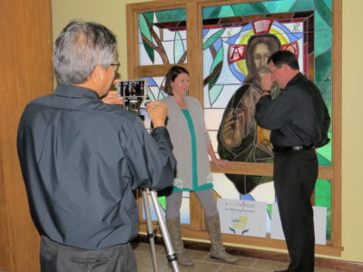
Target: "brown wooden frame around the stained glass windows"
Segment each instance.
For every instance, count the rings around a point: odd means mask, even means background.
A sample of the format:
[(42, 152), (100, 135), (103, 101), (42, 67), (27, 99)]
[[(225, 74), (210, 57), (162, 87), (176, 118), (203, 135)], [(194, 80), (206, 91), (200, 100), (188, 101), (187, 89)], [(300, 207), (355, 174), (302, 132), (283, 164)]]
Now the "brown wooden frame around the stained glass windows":
[[(266, 1), (266, 0), (265, 0)], [(140, 65), (138, 45), (138, 15), (145, 12), (161, 11), (169, 9), (185, 8), (187, 17), (187, 59), (188, 63), (180, 64), (190, 72), (189, 94), (197, 98), (201, 104), (203, 100), (203, 74), (202, 74), (202, 8), (213, 5), (233, 5), (252, 2), (263, 2), (263, 0), (168, 0), (150, 1), (126, 5), (127, 20), (127, 54), (128, 54), (128, 77), (138, 79), (141, 76), (163, 76), (173, 64), (162, 65)], [(316, 245), (316, 253), (341, 256), (343, 250), (341, 245), (341, 55), (342, 55), (342, 1), (333, 2), (333, 24), (332, 24), (332, 166), (319, 167), (319, 179), (329, 180), (331, 183), (331, 239), (327, 245)], [(213, 172), (223, 172), (211, 163)], [(268, 163), (232, 162), (232, 174), (247, 174), (272, 176), (272, 165)], [(137, 194), (139, 207), (142, 207), (142, 198)], [(191, 224), (182, 226), (182, 236), (191, 239), (209, 240), (205, 231), (203, 211), (195, 195), (191, 193)], [(142, 209), (141, 209), (142, 210)], [(141, 221), (140, 231), (146, 232), (145, 221), (142, 213), (139, 213)], [(284, 240), (272, 238), (254, 238), (248, 236), (236, 236), (222, 234), (223, 241), (237, 247), (243, 245), (286, 249)]]

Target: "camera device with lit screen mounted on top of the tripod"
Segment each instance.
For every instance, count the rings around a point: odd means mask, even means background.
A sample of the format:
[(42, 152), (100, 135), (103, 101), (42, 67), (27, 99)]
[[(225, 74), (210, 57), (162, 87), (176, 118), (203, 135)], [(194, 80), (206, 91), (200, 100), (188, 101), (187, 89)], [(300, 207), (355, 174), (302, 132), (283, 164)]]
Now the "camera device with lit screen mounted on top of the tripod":
[(142, 102), (147, 99), (147, 83), (144, 80), (121, 81), (117, 83), (117, 93), (123, 97), (123, 108), (132, 112), (144, 121), (145, 116), (140, 112)]

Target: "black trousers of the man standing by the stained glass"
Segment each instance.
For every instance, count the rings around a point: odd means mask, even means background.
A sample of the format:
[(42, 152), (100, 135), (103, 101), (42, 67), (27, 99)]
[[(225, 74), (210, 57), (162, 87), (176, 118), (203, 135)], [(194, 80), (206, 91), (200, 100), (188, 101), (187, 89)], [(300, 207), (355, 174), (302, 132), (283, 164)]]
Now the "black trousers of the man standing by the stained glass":
[(291, 262), (289, 271), (314, 271), (311, 195), (318, 178), (316, 151), (275, 152), (274, 186)]

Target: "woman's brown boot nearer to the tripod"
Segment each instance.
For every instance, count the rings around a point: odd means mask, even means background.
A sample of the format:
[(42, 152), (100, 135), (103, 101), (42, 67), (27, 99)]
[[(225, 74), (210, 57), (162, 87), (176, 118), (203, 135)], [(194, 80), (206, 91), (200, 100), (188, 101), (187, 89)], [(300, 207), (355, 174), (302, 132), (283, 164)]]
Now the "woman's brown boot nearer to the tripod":
[(168, 228), (170, 238), (172, 240), (172, 248), (178, 257), (178, 263), (182, 266), (194, 266), (191, 258), (186, 254), (184, 244), (182, 243), (181, 219), (166, 219), (166, 227)]

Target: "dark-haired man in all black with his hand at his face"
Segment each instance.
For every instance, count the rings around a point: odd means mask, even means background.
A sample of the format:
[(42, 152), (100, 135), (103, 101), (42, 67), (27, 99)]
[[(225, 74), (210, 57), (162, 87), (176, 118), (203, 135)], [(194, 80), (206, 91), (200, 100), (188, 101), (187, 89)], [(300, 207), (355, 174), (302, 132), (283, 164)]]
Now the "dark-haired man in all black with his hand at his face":
[[(291, 262), (284, 271), (314, 271), (314, 221), (311, 195), (318, 178), (316, 148), (329, 142), (330, 117), (318, 87), (299, 73), (298, 59), (289, 51), (273, 53), (270, 73), (255, 118), (271, 130), (274, 186), (282, 229)], [(271, 100), (272, 83), (282, 89)]]

